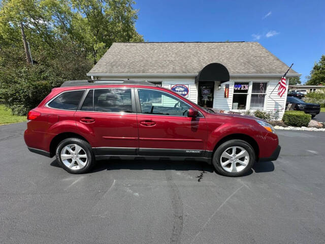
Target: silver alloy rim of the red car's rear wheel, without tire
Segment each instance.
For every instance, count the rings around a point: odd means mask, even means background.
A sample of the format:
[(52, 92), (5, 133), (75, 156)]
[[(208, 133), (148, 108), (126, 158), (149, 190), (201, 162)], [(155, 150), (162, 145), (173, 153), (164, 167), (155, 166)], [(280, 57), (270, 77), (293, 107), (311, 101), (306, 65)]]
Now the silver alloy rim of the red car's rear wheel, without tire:
[(82, 169), (87, 164), (86, 151), (77, 144), (64, 146), (60, 153), (64, 165), (72, 170)]

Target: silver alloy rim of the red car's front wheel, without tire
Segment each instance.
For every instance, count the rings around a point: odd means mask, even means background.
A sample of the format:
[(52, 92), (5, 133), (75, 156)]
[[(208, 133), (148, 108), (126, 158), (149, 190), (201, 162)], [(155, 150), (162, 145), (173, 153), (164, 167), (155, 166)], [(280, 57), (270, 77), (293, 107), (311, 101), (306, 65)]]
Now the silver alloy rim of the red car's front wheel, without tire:
[(246, 168), (249, 162), (248, 152), (241, 146), (228, 147), (220, 157), (221, 167), (228, 172), (237, 173)]

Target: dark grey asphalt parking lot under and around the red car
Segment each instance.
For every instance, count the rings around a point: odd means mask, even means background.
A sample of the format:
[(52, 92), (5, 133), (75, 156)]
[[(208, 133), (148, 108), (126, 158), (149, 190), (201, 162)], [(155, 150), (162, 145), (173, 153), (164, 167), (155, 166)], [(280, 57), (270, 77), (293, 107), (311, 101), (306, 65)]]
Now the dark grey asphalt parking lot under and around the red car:
[(0, 127), (1, 243), (324, 243), (325, 133), (277, 131), (244, 177), (196, 162), (99, 162), (72, 175)]

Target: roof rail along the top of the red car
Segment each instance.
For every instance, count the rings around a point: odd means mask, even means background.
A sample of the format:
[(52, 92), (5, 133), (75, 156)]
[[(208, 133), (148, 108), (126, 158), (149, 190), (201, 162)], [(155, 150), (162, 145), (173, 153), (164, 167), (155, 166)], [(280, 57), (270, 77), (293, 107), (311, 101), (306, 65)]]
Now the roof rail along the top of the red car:
[(148, 81), (138, 80), (68, 80), (60, 87), (83, 86), (83, 85), (149, 85), (156, 86)]

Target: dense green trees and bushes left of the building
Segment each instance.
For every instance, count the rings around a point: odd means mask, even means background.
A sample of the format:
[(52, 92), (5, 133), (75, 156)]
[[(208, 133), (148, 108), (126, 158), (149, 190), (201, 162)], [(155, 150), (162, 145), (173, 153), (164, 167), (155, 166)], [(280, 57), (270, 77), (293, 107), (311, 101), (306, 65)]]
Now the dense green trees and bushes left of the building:
[[(0, 103), (14, 114), (65, 80), (85, 79), (113, 42), (142, 42), (132, 0), (0, 1)], [(26, 64), (20, 23), (34, 65)]]

